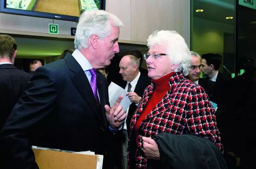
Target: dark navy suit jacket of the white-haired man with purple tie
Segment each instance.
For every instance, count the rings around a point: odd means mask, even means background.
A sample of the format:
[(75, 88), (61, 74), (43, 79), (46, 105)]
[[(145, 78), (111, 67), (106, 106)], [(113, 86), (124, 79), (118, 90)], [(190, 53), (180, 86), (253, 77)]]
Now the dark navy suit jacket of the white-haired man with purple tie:
[(93, 151), (104, 155), (103, 168), (111, 168), (107, 154), (114, 135), (104, 108), (109, 105), (108, 86), (99, 72), (97, 88), (100, 106), (82, 67), (69, 53), (37, 68), (0, 133), (0, 148), (13, 165), (8, 168), (37, 169), (32, 145)]

